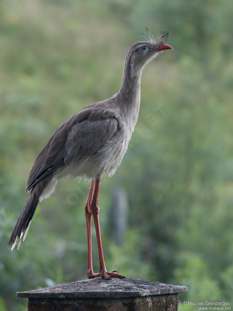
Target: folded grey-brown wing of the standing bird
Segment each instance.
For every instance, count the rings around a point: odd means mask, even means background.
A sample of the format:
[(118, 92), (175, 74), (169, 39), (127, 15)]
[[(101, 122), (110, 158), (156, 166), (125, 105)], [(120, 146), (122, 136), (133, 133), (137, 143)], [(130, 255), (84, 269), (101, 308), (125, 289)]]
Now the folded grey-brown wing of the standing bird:
[(97, 152), (121, 128), (120, 123), (120, 117), (113, 109), (104, 109), (96, 104), (67, 119), (35, 160), (26, 191), (57, 168)]

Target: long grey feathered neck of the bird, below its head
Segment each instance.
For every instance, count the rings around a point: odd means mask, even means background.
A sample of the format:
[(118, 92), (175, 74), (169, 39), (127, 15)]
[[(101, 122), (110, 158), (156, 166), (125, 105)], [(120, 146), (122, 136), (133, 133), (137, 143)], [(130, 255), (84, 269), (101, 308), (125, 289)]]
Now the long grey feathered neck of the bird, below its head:
[(134, 72), (133, 63), (126, 58), (123, 71), (122, 84), (120, 91), (117, 93), (121, 106), (129, 111), (139, 111), (140, 106), (140, 83), (142, 70)]

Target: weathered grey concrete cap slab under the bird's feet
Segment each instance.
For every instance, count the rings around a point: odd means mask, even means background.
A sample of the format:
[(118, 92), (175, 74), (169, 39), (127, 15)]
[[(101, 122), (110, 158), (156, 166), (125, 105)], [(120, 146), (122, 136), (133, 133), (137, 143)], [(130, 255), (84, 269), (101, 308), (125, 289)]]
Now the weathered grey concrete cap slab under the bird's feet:
[(187, 291), (186, 286), (170, 285), (138, 279), (105, 280), (101, 277), (56, 285), (38, 290), (17, 292), (19, 298), (128, 298), (176, 294)]

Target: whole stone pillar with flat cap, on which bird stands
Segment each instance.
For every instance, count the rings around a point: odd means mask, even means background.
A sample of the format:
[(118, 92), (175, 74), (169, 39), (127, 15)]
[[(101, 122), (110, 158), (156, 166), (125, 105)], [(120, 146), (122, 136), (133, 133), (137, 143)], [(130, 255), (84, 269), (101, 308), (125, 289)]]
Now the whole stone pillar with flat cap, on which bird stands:
[(95, 278), (17, 292), (28, 311), (177, 311), (186, 286), (138, 279)]

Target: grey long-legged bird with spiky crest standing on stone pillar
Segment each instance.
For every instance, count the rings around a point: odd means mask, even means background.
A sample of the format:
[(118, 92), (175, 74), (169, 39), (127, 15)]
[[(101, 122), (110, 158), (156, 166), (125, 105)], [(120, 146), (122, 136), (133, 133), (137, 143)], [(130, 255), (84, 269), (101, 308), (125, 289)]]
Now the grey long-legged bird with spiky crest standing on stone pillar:
[[(48, 140), (36, 158), (27, 182), (30, 191), (25, 206), (11, 234), (8, 247), (17, 249), (27, 235), (35, 209), (44, 198), (55, 191), (62, 177), (85, 177), (90, 181), (90, 190), (85, 204), (87, 225), (87, 277), (125, 278), (116, 270), (108, 272), (103, 257), (99, 226), (98, 197), (102, 175), (112, 176), (125, 155), (131, 135), (139, 116), (140, 81), (142, 70), (164, 50), (173, 49), (165, 44), (169, 32), (154, 36), (146, 27), (148, 35), (143, 41), (132, 44), (126, 53), (122, 84), (112, 97), (81, 109), (68, 118)], [(94, 220), (99, 272), (92, 266), (91, 220)], [(117, 272), (117, 273), (116, 273)]]

